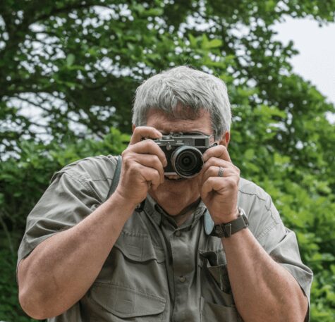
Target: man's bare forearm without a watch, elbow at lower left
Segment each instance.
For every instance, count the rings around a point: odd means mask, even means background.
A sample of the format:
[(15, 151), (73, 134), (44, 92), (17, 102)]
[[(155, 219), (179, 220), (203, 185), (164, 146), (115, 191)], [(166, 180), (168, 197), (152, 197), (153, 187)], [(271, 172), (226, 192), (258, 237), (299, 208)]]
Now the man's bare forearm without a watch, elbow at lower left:
[(115, 193), (78, 225), (49, 237), (20, 261), (23, 309), (35, 318), (47, 318), (83, 297), (133, 209)]

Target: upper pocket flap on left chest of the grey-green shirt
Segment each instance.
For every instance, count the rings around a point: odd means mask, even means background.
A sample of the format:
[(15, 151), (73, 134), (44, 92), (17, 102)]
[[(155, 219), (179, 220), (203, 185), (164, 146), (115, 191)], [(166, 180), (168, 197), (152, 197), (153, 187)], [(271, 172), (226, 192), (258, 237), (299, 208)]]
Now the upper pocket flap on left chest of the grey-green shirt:
[(145, 234), (131, 234), (123, 231), (116, 240), (114, 247), (133, 261), (156, 259), (157, 262), (162, 263), (165, 259), (163, 249), (155, 246), (150, 236)]

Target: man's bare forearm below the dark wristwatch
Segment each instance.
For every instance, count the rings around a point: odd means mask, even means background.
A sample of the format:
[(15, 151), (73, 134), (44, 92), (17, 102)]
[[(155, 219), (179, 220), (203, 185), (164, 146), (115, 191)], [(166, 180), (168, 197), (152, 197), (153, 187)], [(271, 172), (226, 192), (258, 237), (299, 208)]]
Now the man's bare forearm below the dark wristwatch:
[(307, 299), (300, 286), (264, 251), (250, 230), (240, 230), (222, 242), (243, 321), (304, 321)]

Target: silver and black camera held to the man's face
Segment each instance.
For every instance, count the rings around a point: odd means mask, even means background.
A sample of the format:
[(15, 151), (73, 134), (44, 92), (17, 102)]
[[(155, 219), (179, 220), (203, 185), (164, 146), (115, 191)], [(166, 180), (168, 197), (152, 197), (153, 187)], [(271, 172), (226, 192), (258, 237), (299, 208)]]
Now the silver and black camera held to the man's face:
[(193, 178), (200, 173), (204, 164), (202, 154), (211, 147), (209, 136), (202, 134), (171, 133), (154, 142), (164, 151), (168, 162), (164, 174), (182, 178)]

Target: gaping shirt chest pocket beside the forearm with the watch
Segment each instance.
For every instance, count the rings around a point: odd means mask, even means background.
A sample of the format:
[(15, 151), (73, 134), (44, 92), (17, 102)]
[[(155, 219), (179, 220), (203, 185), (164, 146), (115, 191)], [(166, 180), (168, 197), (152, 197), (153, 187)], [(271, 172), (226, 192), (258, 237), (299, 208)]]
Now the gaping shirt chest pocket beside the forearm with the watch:
[(233, 300), (223, 249), (200, 250), (202, 322), (242, 322)]

